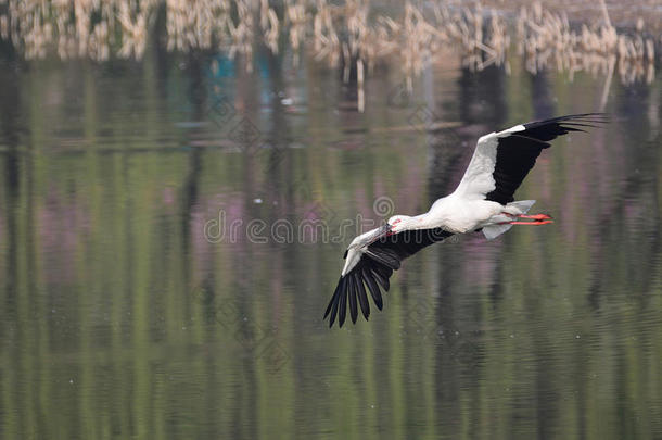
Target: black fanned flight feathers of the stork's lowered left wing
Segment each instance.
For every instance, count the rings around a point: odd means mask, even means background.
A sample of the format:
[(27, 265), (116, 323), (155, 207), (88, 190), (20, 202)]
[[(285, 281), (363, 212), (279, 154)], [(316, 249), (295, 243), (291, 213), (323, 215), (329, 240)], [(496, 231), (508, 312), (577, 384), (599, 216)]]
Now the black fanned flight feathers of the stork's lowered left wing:
[(377, 307), (382, 310), (382, 289), (389, 291), (391, 287), (389, 278), (393, 275), (393, 271), (400, 267), (402, 261), (451, 235), (441, 228), (405, 230), (381, 237), (368, 246), (359, 262), (338, 281), (335, 292), (324, 312), (324, 319), (331, 314), (329, 327), (333, 326), (335, 316), (338, 316), (339, 326), (343, 326), (347, 305), (349, 305), (349, 316), (353, 323), (356, 323), (359, 306), (368, 319), (370, 316), (368, 292)]

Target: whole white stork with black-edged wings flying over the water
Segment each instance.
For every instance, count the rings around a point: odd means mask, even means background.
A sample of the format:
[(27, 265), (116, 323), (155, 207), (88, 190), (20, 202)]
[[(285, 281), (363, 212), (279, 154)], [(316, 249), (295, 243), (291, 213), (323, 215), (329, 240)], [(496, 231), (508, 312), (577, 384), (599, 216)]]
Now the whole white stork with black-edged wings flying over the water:
[(549, 141), (570, 131), (607, 123), (603, 113), (559, 116), (493, 131), (478, 141), (471, 162), (456, 190), (436, 200), (424, 214), (394, 215), (377, 229), (356, 237), (345, 251), (345, 265), (324, 312), (329, 327), (356, 323), (358, 309), (370, 316), (368, 294), (382, 310), (382, 290), (400, 263), (421, 249), (456, 234), (482, 231), (492, 240), (513, 225), (552, 223), (547, 214), (526, 214), (535, 200), (514, 201), (514, 191)]

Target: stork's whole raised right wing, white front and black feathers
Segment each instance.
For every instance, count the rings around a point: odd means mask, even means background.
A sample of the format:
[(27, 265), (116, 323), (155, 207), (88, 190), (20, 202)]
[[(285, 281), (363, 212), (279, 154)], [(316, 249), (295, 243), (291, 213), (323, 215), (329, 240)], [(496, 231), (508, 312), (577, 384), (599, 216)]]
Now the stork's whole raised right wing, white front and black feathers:
[(550, 146), (550, 140), (606, 122), (608, 118), (603, 113), (572, 114), (485, 135), (479, 139), (455, 193), (464, 199), (510, 203), (540, 151)]

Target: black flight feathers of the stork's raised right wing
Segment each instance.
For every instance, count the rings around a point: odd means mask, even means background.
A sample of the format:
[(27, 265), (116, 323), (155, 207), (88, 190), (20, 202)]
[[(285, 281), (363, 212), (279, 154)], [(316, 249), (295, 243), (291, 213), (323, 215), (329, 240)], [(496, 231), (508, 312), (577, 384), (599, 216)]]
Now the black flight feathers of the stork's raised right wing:
[(608, 122), (603, 113), (572, 114), (524, 124), (524, 130), (499, 138), (493, 177), (496, 188), (485, 196), (501, 204), (514, 201), (514, 191), (535, 165), (536, 159), (549, 141), (570, 131), (583, 131), (580, 127), (595, 127)]

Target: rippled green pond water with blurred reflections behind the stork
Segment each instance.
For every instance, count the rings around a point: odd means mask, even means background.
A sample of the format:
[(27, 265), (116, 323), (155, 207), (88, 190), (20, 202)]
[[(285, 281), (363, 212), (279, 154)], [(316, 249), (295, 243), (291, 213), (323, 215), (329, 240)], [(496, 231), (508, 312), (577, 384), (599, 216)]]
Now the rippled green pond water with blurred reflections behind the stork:
[(555, 224), (427, 249), (329, 329), (343, 221), (425, 211), (480, 135), (606, 78), (393, 66), (359, 113), (340, 71), (256, 60), (0, 63), (2, 439), (662, 436), (660, 77), (543, 153), (518, 198)]

